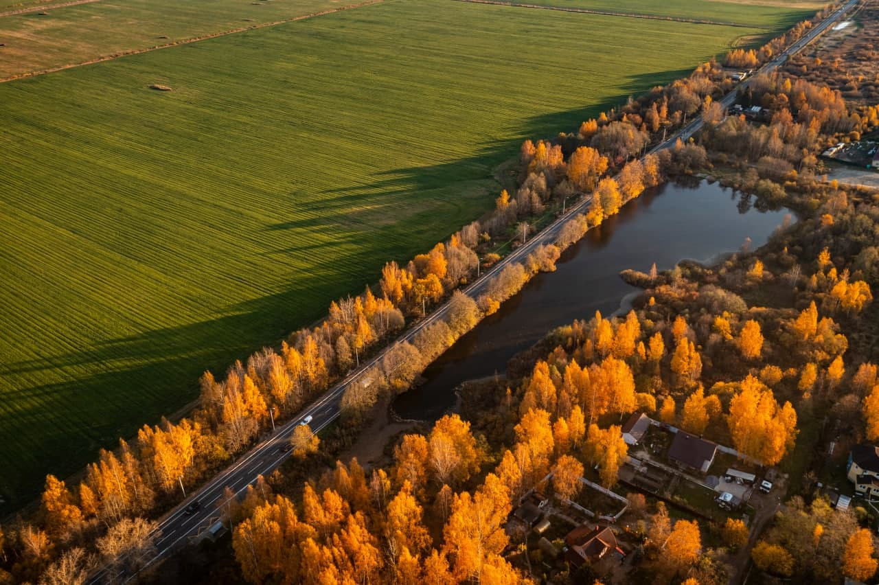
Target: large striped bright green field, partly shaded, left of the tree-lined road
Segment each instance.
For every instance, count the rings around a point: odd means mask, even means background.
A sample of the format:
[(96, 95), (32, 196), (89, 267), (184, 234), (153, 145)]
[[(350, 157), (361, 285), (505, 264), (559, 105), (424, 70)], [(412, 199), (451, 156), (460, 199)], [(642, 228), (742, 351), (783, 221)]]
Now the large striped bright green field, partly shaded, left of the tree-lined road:
[(523, 138), (743, 32), (395, 0), (0, 84), (0, 494), (474, 219)]

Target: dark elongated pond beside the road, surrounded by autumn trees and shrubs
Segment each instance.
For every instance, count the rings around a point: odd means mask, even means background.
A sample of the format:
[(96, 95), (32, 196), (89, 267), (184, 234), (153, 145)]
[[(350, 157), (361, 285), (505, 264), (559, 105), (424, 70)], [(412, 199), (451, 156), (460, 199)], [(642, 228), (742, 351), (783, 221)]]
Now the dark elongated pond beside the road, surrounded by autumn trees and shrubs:
[(636, 292), (620, 278), (627, 268), (663, 271), (680, 260), (709, 262), (740, 249), (751, 238), (763, 245), (786, 210), (760, 212), (741, 193), (705, 182), (666, 184), (643, 193), (621, 212), (565, 250), (555, 272), (525, 288), (461, 337), (425, 371), (425, 383), (401, 394), (394, 409), (403, 418), (432, 420), (454, 404), (454, 388), (467, 379), (504, 372), (517, 352), (560, 325), (614, 313)]

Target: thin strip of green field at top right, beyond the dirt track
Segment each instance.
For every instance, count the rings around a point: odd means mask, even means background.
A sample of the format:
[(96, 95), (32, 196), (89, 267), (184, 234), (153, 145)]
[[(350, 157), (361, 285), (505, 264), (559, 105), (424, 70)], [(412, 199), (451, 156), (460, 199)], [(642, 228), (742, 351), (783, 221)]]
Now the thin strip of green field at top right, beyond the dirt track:
[(772, 32), (809, 18), (827, 2), (810, 0), (510, 0), (513, 4), (541, 4), (672, 18), (696, 18), (765, 28)]

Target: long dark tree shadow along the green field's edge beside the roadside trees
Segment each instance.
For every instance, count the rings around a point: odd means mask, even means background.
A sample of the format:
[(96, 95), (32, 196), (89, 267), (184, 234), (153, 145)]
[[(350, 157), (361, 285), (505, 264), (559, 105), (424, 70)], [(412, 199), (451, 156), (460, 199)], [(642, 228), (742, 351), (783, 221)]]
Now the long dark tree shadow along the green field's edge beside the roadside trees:
[[(631, 76), (624, 91), (598, 105), (499, 128), (498, 134), (511, 138), (485, 141), (477, 155), (377, 174), (370, 184), (328, 191), (332, 197), (309, 202), (308, 219), (278, 218), (266, 231), (305, 227), (332, 233), (335, 243), (344, 244), (332, 262), (299, 271), (280, 293), (224, 307), (222, 314), (205, 321), (0, 362), (0, 495), (6, 499), (0, 513), (37, 495), (46, 473), (74, 473), (94, 460), (99, 448), (113, 448), (118, 437), (133, 437), (143, 424), (155, 424), (193, 401), (205, 370), (223, 378), (235, 359), (246, 360), (265, 345), (277, 346), (295, 329), (323, 316), (331, 300), (376, 283), (385, 262), (405, 261), (476, 219), (471, 216), (473, 201), (478, 199), (481, 209), (490, 208), (499, 189), (491, 175), (501, 162), (518, 155), (524, 138), (576, 132), (583, 120), (624, 105), (630, 94), (686, 73)], [(410, 207), (404, 216), (401, 203)], [(294, 258), (314, 253), (325, 242), (296, 240), (265, 253)], [(21, 382), (50, 376), (65, 381)]]

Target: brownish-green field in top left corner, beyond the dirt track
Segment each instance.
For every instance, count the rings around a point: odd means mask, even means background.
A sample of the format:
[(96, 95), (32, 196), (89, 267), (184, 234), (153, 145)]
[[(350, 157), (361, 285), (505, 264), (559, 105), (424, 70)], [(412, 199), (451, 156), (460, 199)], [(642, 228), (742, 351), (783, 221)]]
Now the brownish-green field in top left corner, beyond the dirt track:
[[(0, 47), (0, 78), (277, 22), (359, 1), (99, 0), (46, 9), (46, 16), (37, 12), (15, 14), (0, 18), (0, 42), (5, 45)], [(3, 2), (0, 0), (0, 5)]]

